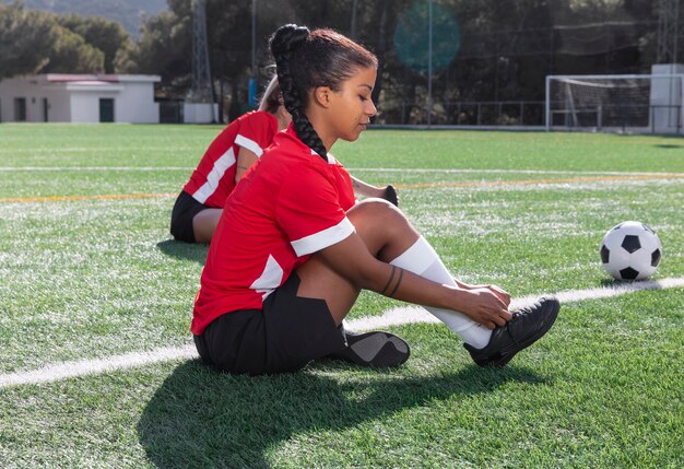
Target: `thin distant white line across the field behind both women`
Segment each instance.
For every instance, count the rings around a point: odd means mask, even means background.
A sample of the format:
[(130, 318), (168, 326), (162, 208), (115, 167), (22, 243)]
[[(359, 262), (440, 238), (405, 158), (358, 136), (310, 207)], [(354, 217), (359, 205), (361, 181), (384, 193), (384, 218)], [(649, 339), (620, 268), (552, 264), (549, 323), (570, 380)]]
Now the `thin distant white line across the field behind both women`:
[[(118, 172), (151, 172), (151, 171), (192, 171), (194, 166), (0, 166), (0, 173), (13, 172), (98, 172), (98, 171), (118, 171)], [(659, 176), (668, 175), (672, 177), (682, 177), (684, 173), (636, 173), (636, 172), (615, 172), (615, 171), (554, 171), (554, 169), (473, 169), (473, 168), (424, 168), (424, 167), (347, 167), (350, 173), (370, 172), (370, 173), (443, 173), (443, 174), (587, 174), (587, 175), (605, 175), (605, 176)]]

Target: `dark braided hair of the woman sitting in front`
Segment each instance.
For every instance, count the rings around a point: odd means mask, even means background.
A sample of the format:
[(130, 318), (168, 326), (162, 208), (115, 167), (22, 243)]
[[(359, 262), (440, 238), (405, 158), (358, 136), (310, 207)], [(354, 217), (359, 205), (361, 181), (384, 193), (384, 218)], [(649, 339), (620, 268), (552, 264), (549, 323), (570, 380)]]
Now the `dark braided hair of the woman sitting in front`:
[(332, 30), (314, 30), (286, 24), (270, 39), (285, 108), (299, 139), (326, 159), (326, 146), (304, 114), (309, 90), (328, 86), (339, 91), (342, 82), (359, 68), (377, 68), (368, 50)]

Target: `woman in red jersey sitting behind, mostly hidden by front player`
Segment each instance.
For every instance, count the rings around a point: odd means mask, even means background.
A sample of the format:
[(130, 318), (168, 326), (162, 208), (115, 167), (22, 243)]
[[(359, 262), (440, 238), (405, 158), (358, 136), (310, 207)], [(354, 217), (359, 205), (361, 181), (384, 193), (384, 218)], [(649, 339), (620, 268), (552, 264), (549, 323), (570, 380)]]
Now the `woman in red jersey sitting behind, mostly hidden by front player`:
[[(259, 109), (231, 122), (209, 145), (174, 204), (170, 233), (176, 239), (211, 242), (226, 197), (271, 144), (275, 132), (292, 121), (282, 101), (278, 78), (273, 77)], [(392, 186), (379, 188), (355, 178), (352, 181), (361, 196), (381, 197), (396, 206), (399, 203)]]

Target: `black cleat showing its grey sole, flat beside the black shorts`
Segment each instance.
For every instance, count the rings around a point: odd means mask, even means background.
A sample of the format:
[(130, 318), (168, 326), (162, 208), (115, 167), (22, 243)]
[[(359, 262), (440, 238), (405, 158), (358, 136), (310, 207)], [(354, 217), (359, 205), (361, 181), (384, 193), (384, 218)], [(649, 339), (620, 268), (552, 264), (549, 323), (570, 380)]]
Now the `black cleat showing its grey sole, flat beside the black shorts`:
[(340, 326), (346, 347), (340, 352), (328, 355), (330, 359), (343, 360), (373, 368), (399, 366), (409, 360), (411, 349), (401, 338), (390, 332), (350, 332)]

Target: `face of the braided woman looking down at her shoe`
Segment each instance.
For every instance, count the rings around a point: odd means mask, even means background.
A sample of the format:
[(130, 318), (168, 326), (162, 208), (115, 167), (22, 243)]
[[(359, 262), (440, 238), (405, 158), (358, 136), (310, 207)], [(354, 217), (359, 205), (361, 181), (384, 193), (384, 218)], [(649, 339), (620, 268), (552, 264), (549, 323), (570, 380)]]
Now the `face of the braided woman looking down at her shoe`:
[(375, 68), (357, 69), (350, 79), (342, 82), (339, 91), (330, 92), (331, 113), (327, 120), (331, 138), (351, 142), (366, 130), (370, 118), (378, 112), (370, 98), (376, 75)]

